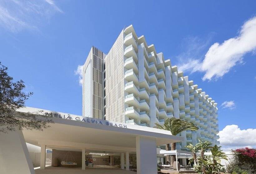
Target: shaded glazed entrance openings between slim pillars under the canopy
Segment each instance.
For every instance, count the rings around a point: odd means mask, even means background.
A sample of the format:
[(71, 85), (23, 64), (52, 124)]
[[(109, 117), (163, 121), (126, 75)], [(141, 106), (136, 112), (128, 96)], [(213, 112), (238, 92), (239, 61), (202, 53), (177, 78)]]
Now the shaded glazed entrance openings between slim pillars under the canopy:
[[(52, 149), (52, 167), (81, 168), (82, 150), (47, 146)], [(129, 153), (129, 170), (136, 170), (136, 153)], [(126, 153), (118, 151), (85, 150), (85, 169), (126, 169)], [(123, 168), (121, 166), (123, 164)]]

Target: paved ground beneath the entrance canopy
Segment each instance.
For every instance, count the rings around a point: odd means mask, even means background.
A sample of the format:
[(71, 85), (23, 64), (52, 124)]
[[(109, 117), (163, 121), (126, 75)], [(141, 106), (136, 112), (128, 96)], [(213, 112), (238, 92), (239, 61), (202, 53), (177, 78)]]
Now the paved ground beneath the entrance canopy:
[(66, 167), (46, 167), (44, 170), (36, 169), (36, 174), (135, 174), (136, 172), (121, 169), (87, 169), (66, 168)]

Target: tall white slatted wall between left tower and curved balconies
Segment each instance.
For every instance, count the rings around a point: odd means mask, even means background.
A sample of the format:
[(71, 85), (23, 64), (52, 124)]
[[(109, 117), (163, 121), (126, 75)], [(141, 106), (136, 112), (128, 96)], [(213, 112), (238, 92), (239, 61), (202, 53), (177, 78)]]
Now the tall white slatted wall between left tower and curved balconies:
[(105, 58), (106, 120), (124, 122), (123, 31)]

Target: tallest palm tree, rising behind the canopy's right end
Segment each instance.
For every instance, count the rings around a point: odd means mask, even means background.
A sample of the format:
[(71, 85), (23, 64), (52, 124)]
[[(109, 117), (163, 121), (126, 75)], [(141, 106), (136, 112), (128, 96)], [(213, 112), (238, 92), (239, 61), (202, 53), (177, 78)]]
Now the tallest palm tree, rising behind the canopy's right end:
[[(196, 127), (193, 123), (190, 123), (188, 121), (185, 120), (181, 120), (179, 118), (168, 118), (165, 120), (165, 123), (163, 126), (161, 126), (158, 123), (155, 123), (156, 128), (158, 129), (163, 129), (166, 131), (170, 131), (172, 135), (177, 135), (182, 131), (196, 131), (198, 130), (198, 127)], [(171, 143), (171, 150), (175, 150), (176, 149), (176, 143)], [(170, 150), (170, 144), (166, 144), (166, 150)], [(170, 162), (171, 161), (171, 166), (173, 165), (173, 162), (175, 161), (175, 156), (172, 155), (171, 160), (170, 160), (170, 155), (166, 156), (166, 162)]]

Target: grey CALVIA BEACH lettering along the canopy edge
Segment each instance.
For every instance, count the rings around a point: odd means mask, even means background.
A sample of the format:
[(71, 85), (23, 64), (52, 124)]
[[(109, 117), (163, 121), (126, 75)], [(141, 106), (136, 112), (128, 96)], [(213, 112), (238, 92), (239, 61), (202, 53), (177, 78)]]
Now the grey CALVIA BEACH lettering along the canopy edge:
[(127, 128), (127, 125), (122, 124), (122, 123), (110, 122), (107, 120), (101, 120), (101, 119), (96, 119), (96, 118), (91, 118), (91, 117), (80, 117), (80, 116), (75, 116), (75, 115), (71, 115), (71, 114), (65, 115), (65, 114), (60, 114), (60, 113), (53, 113), (53, 117), (62, 118), (62, 119), (66, 119), (66, 120), (82, 121), (82, 122), (92, 123), (92, 124), (100, 124), (100, 125), (106, 125), (106, 126)]

